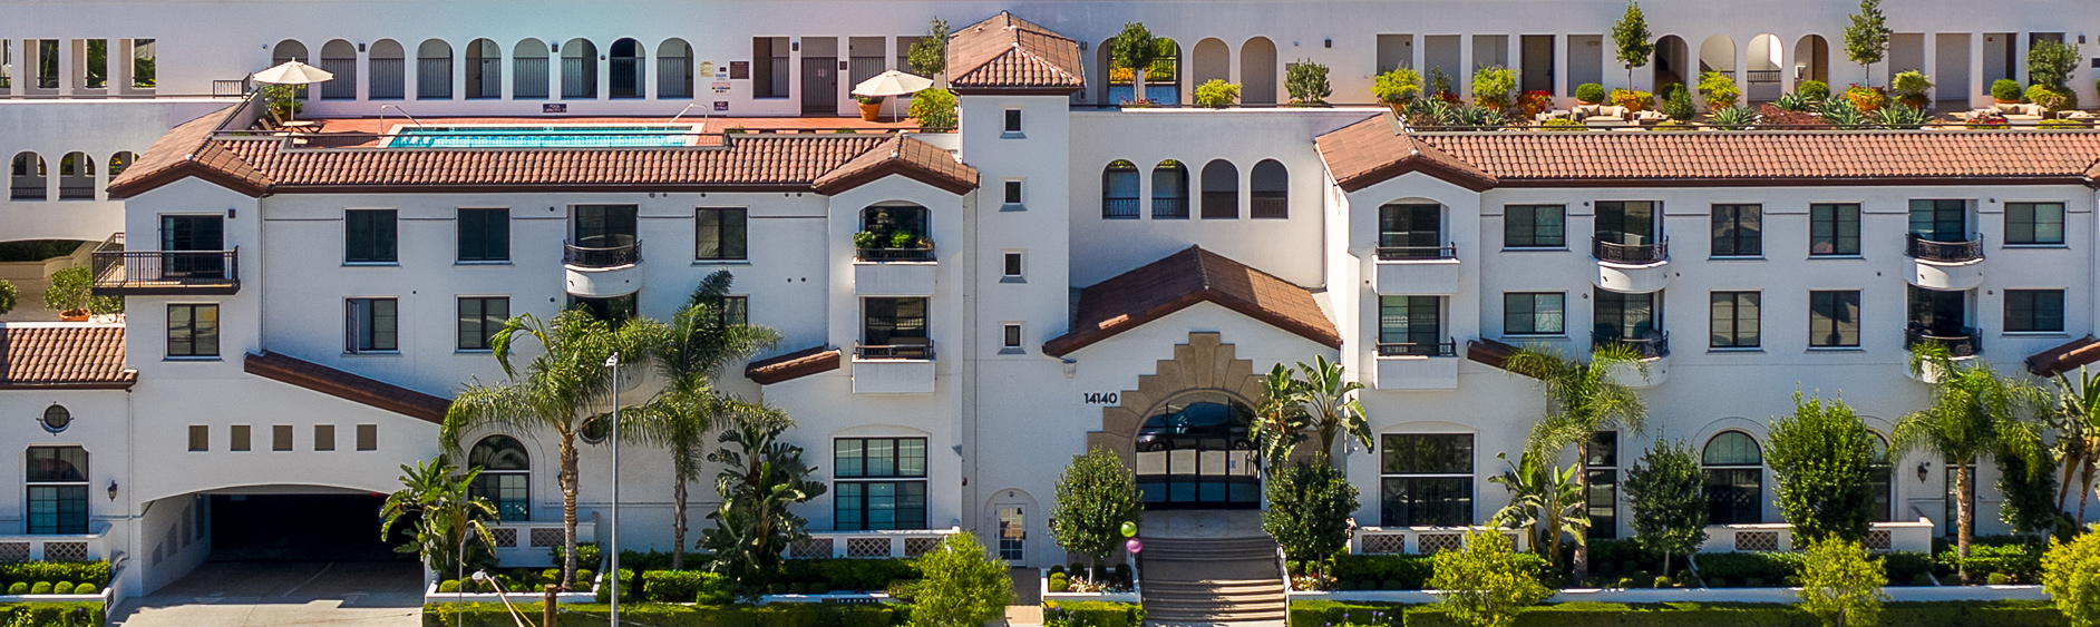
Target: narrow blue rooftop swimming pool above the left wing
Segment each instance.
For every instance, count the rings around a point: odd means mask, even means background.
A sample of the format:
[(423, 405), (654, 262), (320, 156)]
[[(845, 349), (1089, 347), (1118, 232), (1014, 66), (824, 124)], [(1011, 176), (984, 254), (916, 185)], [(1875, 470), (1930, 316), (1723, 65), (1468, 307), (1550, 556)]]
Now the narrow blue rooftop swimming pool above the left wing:
[(691, 126), (407, 126), (388, 149), (662, 149), (693, 145)]

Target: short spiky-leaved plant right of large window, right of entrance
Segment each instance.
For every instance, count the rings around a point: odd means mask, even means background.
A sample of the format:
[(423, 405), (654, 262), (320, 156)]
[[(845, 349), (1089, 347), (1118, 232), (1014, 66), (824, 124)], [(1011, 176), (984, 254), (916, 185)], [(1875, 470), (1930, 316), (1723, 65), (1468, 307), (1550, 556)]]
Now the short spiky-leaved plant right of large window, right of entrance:
[(1495, 524), (1508, 528), (1531, 526), (1531, 547), (1548, 564), (1558, 564), (1562, 533), (1573, 535), (1575, 545), (1588, 545), (1590, 499), (1583, 497), (1575, 482), (1577, 466), (1560, 470), (1554, 468), (1552, 457), (1558, 455), (1525, 451), (1512, 463), (1506, 453), (1495, 453), (1495, 459), (1508, 463), (1510, 470), (1489, 480), (1510, 491), (1510, 505), (1495, 512)]

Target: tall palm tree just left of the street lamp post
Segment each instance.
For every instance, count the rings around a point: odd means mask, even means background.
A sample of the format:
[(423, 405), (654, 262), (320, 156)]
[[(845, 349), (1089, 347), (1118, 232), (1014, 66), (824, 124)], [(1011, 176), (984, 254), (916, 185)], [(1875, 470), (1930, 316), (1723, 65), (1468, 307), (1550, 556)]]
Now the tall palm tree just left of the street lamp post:
[[(523, 375), (512, 365), (517, 340), (531, 336), (542, 352), (525, 363)], [(561, 526), (563, 526), (563, 587), (575, 583), (575, 434), (592, 417), (594, 405), (611, 398), (622, 382), (615, 382), (605, 361), (620, 354), (622, 363), (643, 367), (653, 359), (653, 348), (662, 346), (666, 329), (662, 323), (634, 319), (613, 327), (580, 308), (565, 310), (552, 321), (533, 315), (519, 315), (504, 323), (491, 342), (496, 363), (504, 367), (508, 382), (489, 386), (468, 384), (452, 398), (445, 411), (441, 440), (447, 455), (464, 459), (460, 438), (479, 428), (510, 428), (527, 436), (552, 432), (561, 447)]]

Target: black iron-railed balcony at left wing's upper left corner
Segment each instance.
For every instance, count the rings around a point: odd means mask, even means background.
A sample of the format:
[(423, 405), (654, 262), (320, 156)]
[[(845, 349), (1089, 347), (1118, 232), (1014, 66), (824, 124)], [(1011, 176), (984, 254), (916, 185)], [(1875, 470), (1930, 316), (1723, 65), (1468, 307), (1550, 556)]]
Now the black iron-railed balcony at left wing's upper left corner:
[(90, 256), (94, 296), (227, 296), (242, 291), (239, 247), (124, 250), (111, 235)]

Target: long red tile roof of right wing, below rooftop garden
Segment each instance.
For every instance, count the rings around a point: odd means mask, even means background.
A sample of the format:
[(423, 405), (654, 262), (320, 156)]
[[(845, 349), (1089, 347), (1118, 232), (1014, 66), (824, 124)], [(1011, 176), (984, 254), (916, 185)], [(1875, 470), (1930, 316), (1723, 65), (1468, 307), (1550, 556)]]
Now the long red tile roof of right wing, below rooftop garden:
[(1474, 189), (2092, 185), (2100, 176), (2092, 130), (1403, 132), (1380, 115), (1321, 136), (1319, 149), (1344, 191), (1413, 170)]

